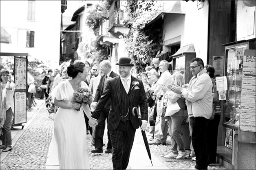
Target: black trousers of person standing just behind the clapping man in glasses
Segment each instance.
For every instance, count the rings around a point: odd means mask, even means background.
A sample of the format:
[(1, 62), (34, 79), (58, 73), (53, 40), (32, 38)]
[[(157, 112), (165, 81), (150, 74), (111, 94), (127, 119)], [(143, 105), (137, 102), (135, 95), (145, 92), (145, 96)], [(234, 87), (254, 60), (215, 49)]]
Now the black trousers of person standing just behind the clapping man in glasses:
[(207, 164), (216, 163), (217, 142), (218, 142), (218, 124), (220, 123), (221, 115), (215, 115), (213, 120), (209, 120), (207, 128)]

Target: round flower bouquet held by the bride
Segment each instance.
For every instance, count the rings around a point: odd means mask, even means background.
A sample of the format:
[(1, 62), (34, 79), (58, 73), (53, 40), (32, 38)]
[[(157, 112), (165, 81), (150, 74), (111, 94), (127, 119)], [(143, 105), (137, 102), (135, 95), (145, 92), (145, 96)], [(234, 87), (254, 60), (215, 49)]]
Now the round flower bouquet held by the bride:
[[(93, 101), (93, 95), (90, 92), (90, 90), (88, 90), (88, 88), (79, 87), (73, 93), (72, 99), (73, 99), (72, 103), (80, 103), (80, 104), (85, 103), (90, 105), (90, 103), (92, 103)], [(79, 111), (80, 108), (75, 110)]]

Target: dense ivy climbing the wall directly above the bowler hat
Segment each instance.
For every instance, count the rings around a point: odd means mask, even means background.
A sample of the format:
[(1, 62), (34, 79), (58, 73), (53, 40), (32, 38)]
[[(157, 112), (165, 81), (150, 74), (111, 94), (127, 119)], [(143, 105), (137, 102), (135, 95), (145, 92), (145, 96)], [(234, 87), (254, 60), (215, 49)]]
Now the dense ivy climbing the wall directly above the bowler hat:
[(150, 58), (154, 58), (163, 47), (161, 26), (143, 29), (145, 24), (163, 12), (163, 3), (156, 0), (128, 0), (126, 12), (128, 17), (124, 19), (124, 25), (130, 28), (128, 34), (124, 35), (126, 50), (135, 62), (137, 73), (140, 73), (150, 65)]

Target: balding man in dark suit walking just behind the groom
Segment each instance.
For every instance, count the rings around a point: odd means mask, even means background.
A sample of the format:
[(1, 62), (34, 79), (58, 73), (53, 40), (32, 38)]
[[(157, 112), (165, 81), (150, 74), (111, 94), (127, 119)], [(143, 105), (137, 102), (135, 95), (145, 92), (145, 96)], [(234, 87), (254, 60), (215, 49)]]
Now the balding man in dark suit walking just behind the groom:
[[(96, 94), (93, 100), (93, 103), (91, 104), (91, 107), (95, 108), (97, 105), (97, 102), (99, 101), (99, 98), (101, 97), (104, 88), (106, 86), (106, 83), (108, 80), (118, 76), (117, 73), (111, 71), (111, 62), (109, 60), (103, 60), (99, 64), (100, 71), (102, 71), (103, 75), (99, 81), (99, 85), (96, 90)], [(107, 103), (104, 106), (104, 109), (101, 110), (99, 118), (98, 118), (98, 125), (95, 129), (95, 149), (92, 150), (92, 153), (102, 153), (102, 147), (103, 147), (103, 135), (105, 130), (105, 121), (107, 119), (108, 121), (108, 112), (110, 110), (110, 99), (108, 99)], [(111, 153), (112, 152), (112, 144), (110, 140), (110, 134), (108, 131), (108, 144), (105, 153)]]

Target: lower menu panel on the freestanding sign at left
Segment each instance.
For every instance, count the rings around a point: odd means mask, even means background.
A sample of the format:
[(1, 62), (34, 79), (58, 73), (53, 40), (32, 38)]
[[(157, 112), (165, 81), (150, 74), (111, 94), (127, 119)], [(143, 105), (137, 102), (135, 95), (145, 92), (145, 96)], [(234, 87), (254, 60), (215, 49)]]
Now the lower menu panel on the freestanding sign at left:
[(14, 124), (26, 123), (26, 91), (14, 92)]

